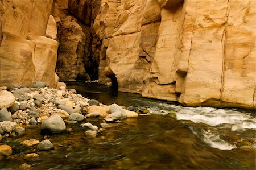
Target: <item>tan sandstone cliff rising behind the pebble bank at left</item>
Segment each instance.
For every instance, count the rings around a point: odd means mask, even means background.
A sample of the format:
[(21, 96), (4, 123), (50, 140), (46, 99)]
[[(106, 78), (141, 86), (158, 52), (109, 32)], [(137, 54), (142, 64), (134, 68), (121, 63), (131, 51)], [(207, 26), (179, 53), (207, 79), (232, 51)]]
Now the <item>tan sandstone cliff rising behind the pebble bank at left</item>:
[(52, 4), (53, 0), (1, 1), (0, 86), (32, 85), (35, 81), (56, 86), (58, 43), (45, 36)]

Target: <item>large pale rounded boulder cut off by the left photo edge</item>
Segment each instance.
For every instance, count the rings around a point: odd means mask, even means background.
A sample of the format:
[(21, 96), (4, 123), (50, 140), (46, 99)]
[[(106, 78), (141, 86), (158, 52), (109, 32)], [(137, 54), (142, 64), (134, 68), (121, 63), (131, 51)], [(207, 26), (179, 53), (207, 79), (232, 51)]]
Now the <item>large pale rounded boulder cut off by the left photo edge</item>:
[(11, 92), (8, 92), (6, 90), (0, 91), (0, 109), (3, 108), (9, 108), (13, 106), (15, 102), (15, 97)]

